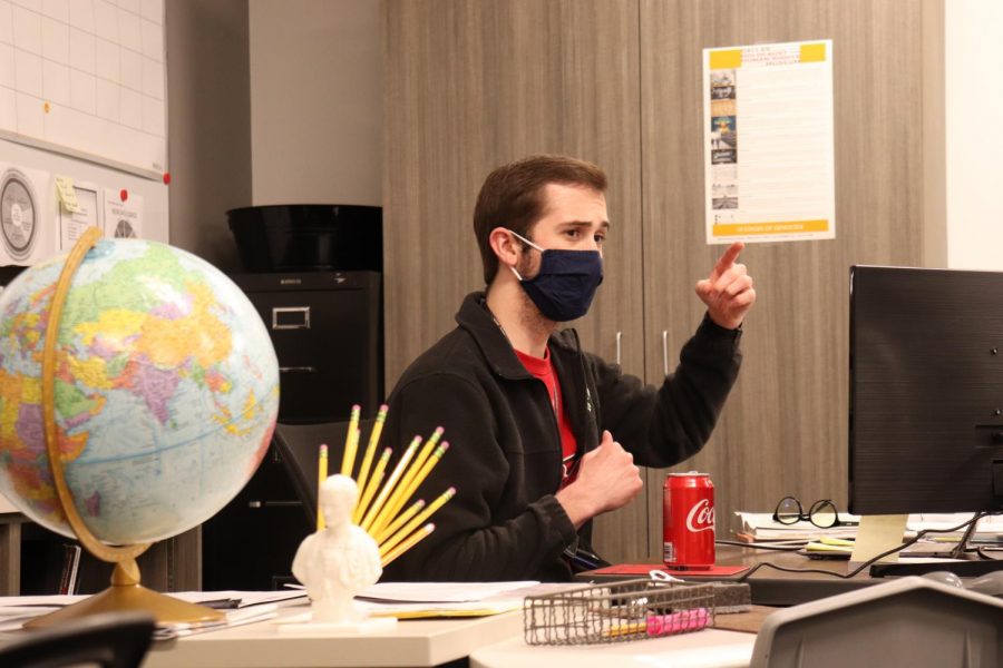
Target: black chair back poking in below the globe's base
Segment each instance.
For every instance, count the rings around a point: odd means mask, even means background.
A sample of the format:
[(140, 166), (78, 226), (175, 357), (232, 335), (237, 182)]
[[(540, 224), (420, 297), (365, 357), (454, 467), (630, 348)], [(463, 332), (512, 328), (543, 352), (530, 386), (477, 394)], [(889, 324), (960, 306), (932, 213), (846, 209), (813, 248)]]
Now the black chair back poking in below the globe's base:
[(97, 665), (136, 668), (149, 649), (154, 618), (143, 612), (103, 612), (58, 627), (26, 631), (0, 647), (0, 666), (61, 668)]

